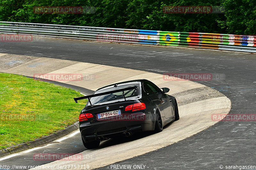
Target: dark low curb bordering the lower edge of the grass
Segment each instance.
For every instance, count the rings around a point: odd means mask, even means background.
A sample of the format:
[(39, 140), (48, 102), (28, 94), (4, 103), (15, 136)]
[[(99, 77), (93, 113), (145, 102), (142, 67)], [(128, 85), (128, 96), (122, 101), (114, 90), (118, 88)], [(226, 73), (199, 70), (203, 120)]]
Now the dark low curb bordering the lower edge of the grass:
[(67, 128), (65, 128), (63, 130), (59, 130), (56, 133), (52, 133), (49, 136), (44, 136), (44, 137), (41, 137), (41, 138), (37, 138), (34, 141), (30, 141), (30, 142), (26, 142), (26, 143), (22, 143), (22, 144), (17, 144), (17, 145), (7, 147), (5, 149), (1, 149), (0, 150), (0, 157), (5, 156), (5, 155), (9, 155), (9, 154), (12, 154), (12, 153), (24, 151), (26, 149), (30, 149), (30, 148), (39, 146), (41, 144), (46, 144), (48, 142), (52, 142), (53, 140), (56, 140), (60, 137), (68, 135), (69, 133), (73, 132), (74, 130), (76, 130), (78, 128), (79, 128), (79, 122), (77, 121), (74, 124), (69, 125)]

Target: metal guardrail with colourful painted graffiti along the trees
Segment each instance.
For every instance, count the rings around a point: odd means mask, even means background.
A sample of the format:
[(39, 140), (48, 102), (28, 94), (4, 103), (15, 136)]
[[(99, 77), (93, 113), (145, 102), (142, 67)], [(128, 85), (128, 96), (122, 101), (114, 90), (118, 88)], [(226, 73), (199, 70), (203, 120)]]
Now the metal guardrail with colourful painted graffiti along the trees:
[(0, 34), (256, 52), (256, 36), (0, 22)]

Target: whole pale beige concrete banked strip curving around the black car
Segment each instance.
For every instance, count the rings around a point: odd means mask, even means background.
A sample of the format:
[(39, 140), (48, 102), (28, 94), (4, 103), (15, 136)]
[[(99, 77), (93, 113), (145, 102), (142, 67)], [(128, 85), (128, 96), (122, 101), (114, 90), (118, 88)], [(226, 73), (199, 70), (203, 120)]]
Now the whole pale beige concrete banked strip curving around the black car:
[[(36, 73), (44, 74), (82, 74), (85, 79), (81, 81), (64, 81), (70, 85), (76, 85), (88, 88), (90, 90), (96, 90), (99, 87), (122, 82), (126, 80), (133, 79), (148, 79), (161, 87), (170, 88), (170, 92), (168, 94), (175, 94), (174, 97), (177, 98), (180, 120), (177, 122), (173, 122), (170, 125), (164, 128), (163, 132), (157, 133), (154, 135), (150, 135), (132, 142), (127, 142), (124, 144), (117, 144), (108, 148), (102, 149), (94, 149), (94, 150), (86, 150), (82, 152), (84, 155), (88, 154), (96, 154), (97, 157), (88, 160), (82, 160), (79, 162), (74, 161), (61, 161), (61, 162), (51, 162), (45, 165), (78, 165), (78, 164), (89, 164), (90, 169), (106, 166), (117, 161), (122, 161), (125, 159), (129, 159), (150, 151), (154, 151), (156, 149), (162, 148), (164, 146), (173, 144), (182, 139), (190, 137), (213, 124), (217, 123), (217, 121), (212, 121), (212, 114), (223, 114), (227, 115), (230, 108), (231, 102), (230, 100), (221, 95), (220, 92), (216, 91), (216, 95), (214, 95), (214, 91), (212, 88), (204, 86), (202, 84), (198, 84), (192, 81), (184, 80), (184, 81), (166, 81), (163, 78), (163, 75), (157, 73), (148, 73), (146, 71), (132, 70), (132, 69), (124, 69), (113, 66), (104, 66), (99, 64), (91, 64), (91, 63), (82, 63), (82, 62), (73, 62), (68, 60), (60, 60), (60, 59), (51, 59), (43, 58), (43, 57), (35, 57), (30, 58), (27, 62), (15, 63), (15, 66), (9, 68), (9, 65), (6, 64), (8, 61), (6, 60), (6, 55), (0, 54), (0, 63), (2, 63), (1, 71), (8, 72), (13, 74), (22, 74), (24, 76), (33, 76)], [(17, 59), (15, 59), (15, 57)], [(22, 55), (12, 55), (12, 61), (20, 61)], [(2, 61), (3, 58), (3, 61)], [(24, 61), (24, 60), (23, 60)], [(49, 63), (48, 64), (38, 64), (38, 63)], [(56, 63), (56, 67), (54, 65)], [(6, 65), (6, 69), (3, 67)], [(34, 69), (28, 68), (29, 66), (35, 66)], [(100, 69), (101, 68), (101, 69)], [(35, 72), (37, 71), (37, 72)], [(86, 77), (87, 76), (87, 77)], [(86, 79), (88, 78), (88, 79)], [(58, 81), (58, 80), (55, 80)], [(63, 82), (63, 81), (60, 81)], [(193, 91), (193, 89), (196, 89)], [(190, 91), (191, 90), (191, 91)], [(199, 96), (199, 99), (193, 102), (189, 102), (190, 92), (193, 93), (193, 96)], [(212, 95), (209, 97), (208, 93)], [(181, 97), (179, 97), (179, 94)], [(78, 96), (74, 96), (78, 97)], [(183, 100), (188, 100), (188, 102), (183, 102)], [(190, 100), (191, 101), (191, 100)], [(182, 104), (180, 104), (182, 103)], [(101, 145), (104, 145), (104, 141)], [(111, 148), (111, 149), (110, 149)], [(107, 150), (108, 152), (105, 152)], [(102, 159), (108, 156), (108, 160), (102, 162)], [(113, 159), (110, 159), (113, 157)], [(106, 160), (106, 159), (105, 159)], [(83, 162), (84, 161), (84, 162)]]

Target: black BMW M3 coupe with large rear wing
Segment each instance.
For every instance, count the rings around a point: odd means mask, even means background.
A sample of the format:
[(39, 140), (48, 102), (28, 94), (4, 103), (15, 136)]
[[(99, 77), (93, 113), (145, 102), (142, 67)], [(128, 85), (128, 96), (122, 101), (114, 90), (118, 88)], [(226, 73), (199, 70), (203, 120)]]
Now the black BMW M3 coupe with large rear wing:
[(169, 88), (158, 88), (146, 80), (132, 80), (108, 85), (88, 99), (79, 115), (79, 129), (86, 148), (97, 148), (100, 141), (128, 137), (140, 131), (161, 132), (172, 121), (179, 120), (175, 97), (165, 94)]

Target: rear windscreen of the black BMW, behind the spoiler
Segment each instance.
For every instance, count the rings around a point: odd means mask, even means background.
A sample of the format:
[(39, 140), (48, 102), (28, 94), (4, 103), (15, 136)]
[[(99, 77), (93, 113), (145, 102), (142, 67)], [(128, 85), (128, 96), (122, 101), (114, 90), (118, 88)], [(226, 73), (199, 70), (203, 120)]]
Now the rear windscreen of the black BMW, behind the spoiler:
[[(102, 92), (109, 92), (109, 91), (123, 89), (123, 88), (127, 88), (127, 87), (132, 87), (132, 86), (135, 86), (135, 85), (113, 87), (113, 88), (95, 92), (94, 94), (102, 93)], [(139, 95), (139, 85), (136, 85), (136, 86), (137, 86), (137, 89), (125, 90), (124, 95), (123, 95), (123, 92), (115, 92), (115, 93), (106, 94), (106, 95), (102, 95), (102, 96), (92, 97), (90, 99), (91, 103), (92, 103), (92, 105), (95, 105), (95, 104), (104, 103), (104, 102), (108, 102), (108, 101), (114, 101), (114, 100), (123, 101), (124, 96), (127, 99), (129, 99), (130, 97), (138, 96)]]

